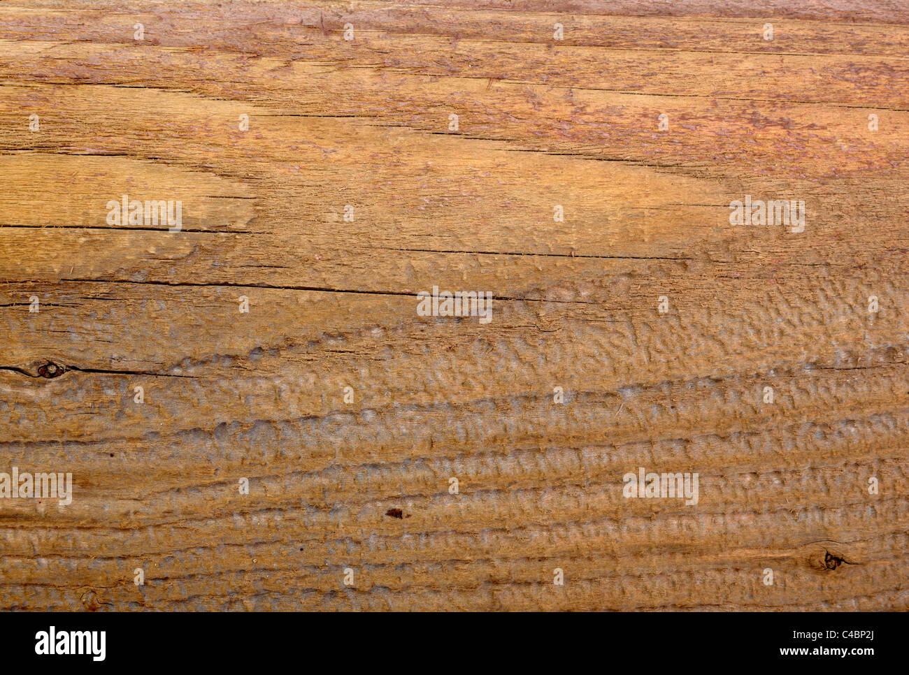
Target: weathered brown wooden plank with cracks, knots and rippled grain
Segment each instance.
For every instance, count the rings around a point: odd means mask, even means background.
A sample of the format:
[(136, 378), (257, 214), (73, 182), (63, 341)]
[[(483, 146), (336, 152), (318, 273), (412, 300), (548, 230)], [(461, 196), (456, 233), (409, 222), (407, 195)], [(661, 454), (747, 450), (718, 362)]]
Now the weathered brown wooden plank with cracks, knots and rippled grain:
[(0, 609), (906, 610), (907, 49), (885, 0), (0, 3), (0, 472), (74, 483), (0, 499)]

